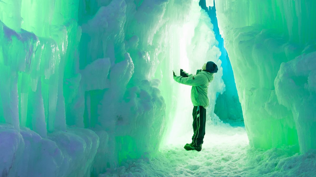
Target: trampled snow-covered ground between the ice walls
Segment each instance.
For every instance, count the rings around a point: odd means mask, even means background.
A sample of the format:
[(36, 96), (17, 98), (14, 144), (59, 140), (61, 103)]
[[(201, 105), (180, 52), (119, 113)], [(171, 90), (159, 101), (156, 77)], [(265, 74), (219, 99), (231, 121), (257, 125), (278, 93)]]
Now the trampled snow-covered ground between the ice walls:
[(191, 133), (161, 148), (156, 158), (131, 160), (103, 176), (314, 176), (316, 151), (251, 148), (244, 127), (208, 126), (203, 149), (185, 151)]

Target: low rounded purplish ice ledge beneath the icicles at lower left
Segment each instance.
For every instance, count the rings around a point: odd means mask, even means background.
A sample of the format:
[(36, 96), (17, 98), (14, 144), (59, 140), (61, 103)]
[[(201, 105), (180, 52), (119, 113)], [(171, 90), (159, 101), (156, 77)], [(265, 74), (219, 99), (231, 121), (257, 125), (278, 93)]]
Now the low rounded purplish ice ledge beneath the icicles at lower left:
[(1, 176), (89, 176), (99, 147), (92, 130), (67, 128), (42, 138), (29, 128), (0, 125)]

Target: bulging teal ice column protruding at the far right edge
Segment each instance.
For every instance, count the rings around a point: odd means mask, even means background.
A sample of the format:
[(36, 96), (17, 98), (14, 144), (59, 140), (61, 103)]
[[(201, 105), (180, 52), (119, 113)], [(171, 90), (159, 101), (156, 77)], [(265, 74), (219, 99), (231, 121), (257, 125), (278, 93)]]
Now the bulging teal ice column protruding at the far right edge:
[(293, 112), (300, 150), (304, 153), (316, 147), (313, 136), (316, 134), (315, 62), (316, 52), (311, 52), (282, 63), (274, 81), (279, 103)]

